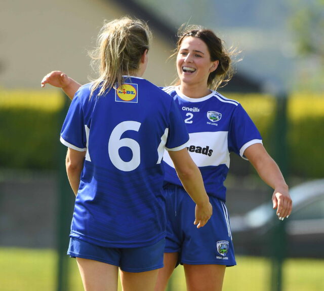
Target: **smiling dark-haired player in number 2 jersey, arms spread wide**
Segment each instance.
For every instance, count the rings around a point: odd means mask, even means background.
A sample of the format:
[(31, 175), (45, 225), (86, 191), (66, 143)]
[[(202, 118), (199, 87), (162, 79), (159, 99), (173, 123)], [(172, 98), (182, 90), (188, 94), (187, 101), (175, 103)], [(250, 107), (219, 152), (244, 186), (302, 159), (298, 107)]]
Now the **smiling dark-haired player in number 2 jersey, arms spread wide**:
[[(292, 200), (284, 177), (264, 149), (261, 135), (244, 108), (217, 92), (232, 77), (231, 58), (235, 52), (226, 51), (213, 31), (200, 26), (183, 26), (178, 37), (174, 55), (179, 78), (163, 90), (180, 108), (190, 137), (187, 149), (203, 175), (214, 215), (200, 230), (191, 225), (195, 205), (188, 199), (187, 188), (181, 185), (170, 152), (166, 152), (166, 248), (164, 268), (158, 272), (154, 290), (165, 290), (173, 270), (181, 264), (187, 290), (220, 291), (226, 266), (236, 265), (225, 205), (229, 154), (234, 152), (250, 160), (260, 177), (274, 189), (273, 208), (280, 220), (290, 215)], [(43, 81), (52, 85), (60, 82), (58, 87), (65, 86), (65, 92), (79, 86), (59, 71)], [(73, 98), (72, 94), (69, 96)]]

